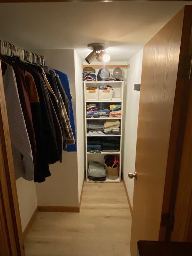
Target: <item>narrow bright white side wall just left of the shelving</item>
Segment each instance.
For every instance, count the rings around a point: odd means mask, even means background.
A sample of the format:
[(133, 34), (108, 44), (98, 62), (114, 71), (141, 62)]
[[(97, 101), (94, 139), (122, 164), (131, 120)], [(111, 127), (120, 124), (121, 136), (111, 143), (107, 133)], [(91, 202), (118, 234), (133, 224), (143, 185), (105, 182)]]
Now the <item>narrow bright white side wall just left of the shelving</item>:
[(76, 90), (76, 120), (77, 127), (77, 166), (78, 166), (78, 189), (79, 189), (79, 201), (81, 196), (82, 184), (85, 176), (85, 147), (84, 147), (84, 101), (83, 101), (83, 84), (82, 84), (82, 59), (74, 50), (75, 61), (75, 90)]

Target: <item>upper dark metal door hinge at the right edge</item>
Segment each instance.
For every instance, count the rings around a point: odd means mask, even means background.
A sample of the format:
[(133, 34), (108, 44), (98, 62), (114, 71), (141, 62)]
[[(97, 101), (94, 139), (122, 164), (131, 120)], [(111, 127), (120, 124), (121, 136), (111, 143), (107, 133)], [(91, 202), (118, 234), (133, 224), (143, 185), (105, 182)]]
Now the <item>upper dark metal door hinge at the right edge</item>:
[(178, 76), (190, 79), (192, 76), (192, 56), (183, 56), (179, 59)]

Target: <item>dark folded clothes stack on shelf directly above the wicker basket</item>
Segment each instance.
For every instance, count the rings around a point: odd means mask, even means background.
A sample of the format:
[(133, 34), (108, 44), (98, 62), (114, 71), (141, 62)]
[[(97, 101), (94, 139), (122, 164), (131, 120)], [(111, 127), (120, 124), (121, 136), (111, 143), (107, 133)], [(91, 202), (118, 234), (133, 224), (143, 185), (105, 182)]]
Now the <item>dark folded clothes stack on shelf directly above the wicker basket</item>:
[(102, 152), (119, 152), (119, 137), (104, 137), (102, 141)]

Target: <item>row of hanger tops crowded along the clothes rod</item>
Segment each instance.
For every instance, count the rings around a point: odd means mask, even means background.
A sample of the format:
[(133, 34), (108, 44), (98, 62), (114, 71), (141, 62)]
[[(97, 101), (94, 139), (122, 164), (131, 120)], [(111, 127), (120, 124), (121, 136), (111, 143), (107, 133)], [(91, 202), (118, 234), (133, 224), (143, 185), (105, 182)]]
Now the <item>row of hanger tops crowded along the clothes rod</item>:
[(4, 56), (10, 56), (10, 57), (18, 56), (22, 60), (25, 60), (31, 63), (36, 63), (41, 66), (45, 65), (44, 56), (39, 56), (35, 53), (29, 52), (25, 49), (22, 49), (18, 46), (15, 46), (1, 39), (0, 39), (0, 53)]

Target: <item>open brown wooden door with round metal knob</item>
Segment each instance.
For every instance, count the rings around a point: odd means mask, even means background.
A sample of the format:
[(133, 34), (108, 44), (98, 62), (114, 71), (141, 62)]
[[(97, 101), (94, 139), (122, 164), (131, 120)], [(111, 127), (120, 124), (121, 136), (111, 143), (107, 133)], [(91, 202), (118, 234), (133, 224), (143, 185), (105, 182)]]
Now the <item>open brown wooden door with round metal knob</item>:
[(178, 66), (188, 55), (191, 22), (192, 7), (185, 6), (144, 46), (131, 256), (137, 255), (138, 240), (158, 240), (160, 234), (165, 239), (161, 214), (169, 208), (175, 164), (180, 167), (190, 93)]

